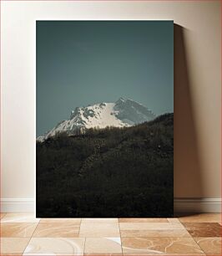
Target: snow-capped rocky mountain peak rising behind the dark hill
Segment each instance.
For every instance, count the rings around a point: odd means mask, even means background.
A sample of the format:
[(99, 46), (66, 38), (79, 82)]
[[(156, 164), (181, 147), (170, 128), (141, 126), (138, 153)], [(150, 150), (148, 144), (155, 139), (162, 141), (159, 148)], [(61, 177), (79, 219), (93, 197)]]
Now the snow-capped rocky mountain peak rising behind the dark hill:
[(153, 120), (154, 113), (134, 100), (119, 98), (114, 103), (98, 103), (87, 107), (77, 107), (71, 111), (70, 118), (63, 120), (53, 130), (43, 136), (38, 136), (38, 141), (44, 141), (48, 137), (55, 136), (61, 132), (75, 134), (88, 128), (106, 126), (124, 127)]

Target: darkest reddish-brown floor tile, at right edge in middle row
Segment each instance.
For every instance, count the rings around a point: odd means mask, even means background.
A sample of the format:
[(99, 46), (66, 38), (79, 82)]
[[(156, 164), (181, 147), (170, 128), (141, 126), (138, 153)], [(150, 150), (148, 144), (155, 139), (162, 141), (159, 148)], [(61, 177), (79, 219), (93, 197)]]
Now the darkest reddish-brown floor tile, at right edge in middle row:
[(222, 227), (219, 223), (183, 223), (192, 237), (220, 237)]

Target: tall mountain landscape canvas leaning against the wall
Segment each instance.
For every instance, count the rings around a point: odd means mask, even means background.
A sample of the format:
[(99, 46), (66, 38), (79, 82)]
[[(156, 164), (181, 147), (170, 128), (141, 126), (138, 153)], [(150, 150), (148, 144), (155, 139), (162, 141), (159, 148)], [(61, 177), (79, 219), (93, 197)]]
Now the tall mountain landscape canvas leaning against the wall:
[(38, 21), (38, 218), (172, 217), (174, 22)]

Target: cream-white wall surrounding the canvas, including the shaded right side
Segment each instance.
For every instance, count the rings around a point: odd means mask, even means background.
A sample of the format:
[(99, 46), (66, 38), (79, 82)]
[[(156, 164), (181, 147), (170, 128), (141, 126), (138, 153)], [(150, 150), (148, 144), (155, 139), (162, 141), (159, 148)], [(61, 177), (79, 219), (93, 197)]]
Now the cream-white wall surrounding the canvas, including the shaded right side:
[(219, 207), (219, 1), (3, 1), (1, 6), (2, 210), (33, 207), (35, 21), (46, 19), (173, 19), (183, 27), (175, 31), (174, 197), (204, 197)]

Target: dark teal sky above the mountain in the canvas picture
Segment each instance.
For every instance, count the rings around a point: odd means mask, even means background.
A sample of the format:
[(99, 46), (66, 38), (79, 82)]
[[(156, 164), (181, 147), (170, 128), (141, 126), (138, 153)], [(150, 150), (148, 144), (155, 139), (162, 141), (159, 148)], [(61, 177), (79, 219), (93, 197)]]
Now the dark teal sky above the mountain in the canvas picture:
[(120, 96), (174, 111), (173, 21), (37, 22), (37, 136)]

